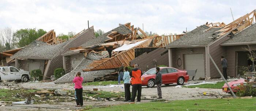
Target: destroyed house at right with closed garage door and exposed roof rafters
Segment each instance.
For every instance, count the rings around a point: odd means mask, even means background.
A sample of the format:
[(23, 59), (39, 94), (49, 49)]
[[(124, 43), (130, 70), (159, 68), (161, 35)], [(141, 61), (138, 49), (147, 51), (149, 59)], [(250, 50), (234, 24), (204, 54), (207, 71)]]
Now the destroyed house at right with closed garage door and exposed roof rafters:
[(195, 78), (218, 78), (220, 75), (210, 61), (210, 53), (221, 71), (220, 58), (227, 58), (227, 74), (236, 77), (237, 66), (245, 66), (244, 62), (248, 60), (243, 48), (245, 45), (253, 45), (255, 41), (255, 16), (254, 10), (227, 25), (223, 22), (207, 22), (198, 26), (166, 46), (169, 49), (169, 66), (197, 70)]

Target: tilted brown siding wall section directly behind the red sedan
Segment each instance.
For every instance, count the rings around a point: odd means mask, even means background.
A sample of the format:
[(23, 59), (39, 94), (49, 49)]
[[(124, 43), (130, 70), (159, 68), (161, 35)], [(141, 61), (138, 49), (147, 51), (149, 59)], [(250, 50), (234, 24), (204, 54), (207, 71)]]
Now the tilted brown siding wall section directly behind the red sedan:
[(147, 66), (148, 66), (148, 69), (155, 67), (153, 59), (157, 59), (156, 66), (159, 66), (159, 65), (169, 66), (168, 53), (165, 53), (161, 56), (161, 54), (166, 51), (168, 51), (167, 48), (166, 49), (158, 48), (148, 54), (144, 53), (136, 57), (135, 59), (133, 59), (130, 65), (132, 66), (135, 63), (137, 63), (139, 64), (139, 69), (141, 69), (142, 71), (147, 71)]

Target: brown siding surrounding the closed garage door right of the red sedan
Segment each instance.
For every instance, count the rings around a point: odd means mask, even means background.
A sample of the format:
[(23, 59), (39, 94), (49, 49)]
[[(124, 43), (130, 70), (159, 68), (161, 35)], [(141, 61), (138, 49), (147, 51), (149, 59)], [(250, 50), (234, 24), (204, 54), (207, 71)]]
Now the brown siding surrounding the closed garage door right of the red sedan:
[[(191, 52), (193, 50), (193, 52)], [(172, 49), (172, 54), (173, 54), (173, 67), (180, 69), (180, 70), (185, 70), (185, 65), (184, 65), (184, 54), (199, 54), (203, 53), (204, 54), (204, 69), (206, 70), (206, 53), (205, 53), (205, 48), (181, 48), (181, 49)], [(178, 58), (181, 59), (181, 66), (178, 66), (177, 60)], [(205, 75), (206, 75), (206, 71)]]

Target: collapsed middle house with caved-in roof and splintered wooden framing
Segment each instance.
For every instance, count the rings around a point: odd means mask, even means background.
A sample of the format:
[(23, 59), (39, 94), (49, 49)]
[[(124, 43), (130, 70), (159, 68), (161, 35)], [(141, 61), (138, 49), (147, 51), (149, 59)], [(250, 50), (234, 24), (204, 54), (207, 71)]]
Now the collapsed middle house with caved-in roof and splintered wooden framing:
[[(149, 37), (140, 28), (134, 28), (131, 23), (119, 24), (117, 28), (79, 47), (70, 48), (70, 51), (62, 54), (65, 60), (64, 69), (69, 73), (54, 83), (72, 82), (78, 71), (82, 73), (84, 81), (101, 80), (103, 77), (107, 78), (106, 76), (114, 77), (117, 74), (116, 68), (122, 63), (130, 66), (135, 57), (163, 48), (178, 37), (181, 36)], [(139, 48), (148, 49), (139, 51)]]

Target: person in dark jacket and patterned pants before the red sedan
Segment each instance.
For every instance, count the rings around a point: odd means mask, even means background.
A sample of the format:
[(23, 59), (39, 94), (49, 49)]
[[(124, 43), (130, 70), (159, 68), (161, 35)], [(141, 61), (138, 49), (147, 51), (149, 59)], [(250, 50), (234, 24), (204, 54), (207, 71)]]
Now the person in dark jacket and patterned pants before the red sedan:
[(160, 68), (159, 67), (156, 67), (155, 68), (156, 72), (156, 76), (155, 76), (155, 84), (157, 85), (157, 94), (158, 94), (158, 97), (157, 99), (162, 99), (162, 90), (161, 90), (161, 86), (162, 86), (162, 73), (160, 72)]

